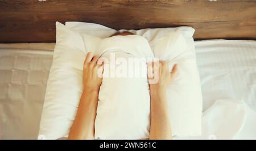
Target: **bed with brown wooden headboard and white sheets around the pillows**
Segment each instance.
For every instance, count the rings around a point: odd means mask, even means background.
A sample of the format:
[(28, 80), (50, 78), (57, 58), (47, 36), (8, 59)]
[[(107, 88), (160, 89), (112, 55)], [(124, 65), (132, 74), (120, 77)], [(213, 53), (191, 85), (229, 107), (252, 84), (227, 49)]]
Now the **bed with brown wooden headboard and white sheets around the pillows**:
[(218, 99), (243, 98), (246, 121), (234, 139), (256, 139), (255, 10), (253, 0), (0, 0), (0, 139), (38, 137), (55, 21), (86, 21), (114, 29), (195, 28), (203, 109)]

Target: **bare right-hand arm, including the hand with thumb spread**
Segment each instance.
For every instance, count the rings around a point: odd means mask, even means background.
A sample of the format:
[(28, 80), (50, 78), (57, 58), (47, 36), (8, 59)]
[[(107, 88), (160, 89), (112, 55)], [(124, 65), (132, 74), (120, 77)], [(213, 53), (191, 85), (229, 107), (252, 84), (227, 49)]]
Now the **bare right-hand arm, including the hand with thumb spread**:
[[(158, 83), (150, 84), (151, 122), (150, 139), (172, 139), (171, 123), (168, 116), (166, 89), (177, 74), (177, 64), (172, 72), (168, 72), (165, 62), (159, 62), (154, 68), (154, 63), (148, 67), (153, 68), (153, 73), (159, 75)], [(155, 72), (158, 68), (158, 72)]]

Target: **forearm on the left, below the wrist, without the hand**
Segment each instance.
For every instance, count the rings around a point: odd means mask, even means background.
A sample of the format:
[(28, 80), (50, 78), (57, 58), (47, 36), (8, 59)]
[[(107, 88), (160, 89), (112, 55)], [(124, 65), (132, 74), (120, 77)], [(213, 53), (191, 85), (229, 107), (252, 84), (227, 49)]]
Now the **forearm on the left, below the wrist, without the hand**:
[(68, 139), (94, 139), (98, 92), (83, 92)]

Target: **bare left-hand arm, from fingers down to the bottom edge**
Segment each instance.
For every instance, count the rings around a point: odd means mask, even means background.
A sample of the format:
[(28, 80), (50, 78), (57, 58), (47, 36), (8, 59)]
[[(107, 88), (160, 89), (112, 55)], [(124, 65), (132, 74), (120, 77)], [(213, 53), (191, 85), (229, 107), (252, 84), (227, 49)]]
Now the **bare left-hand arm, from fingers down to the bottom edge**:
[(68, 139), (94, 139), (94, 121), (98, 102), (98, 92), (102, 83), (103, 66), (98, 58), (86, 55), (84, 62), (84, 91), (82, 92), (76, 118), (72, 124)]

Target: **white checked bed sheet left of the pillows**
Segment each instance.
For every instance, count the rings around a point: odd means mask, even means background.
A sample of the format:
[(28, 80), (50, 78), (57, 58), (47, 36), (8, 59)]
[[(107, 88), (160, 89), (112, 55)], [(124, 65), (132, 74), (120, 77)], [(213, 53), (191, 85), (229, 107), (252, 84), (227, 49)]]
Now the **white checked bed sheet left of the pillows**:
[(0, 44), (0, 138), (37, 139), (55, 44)]

